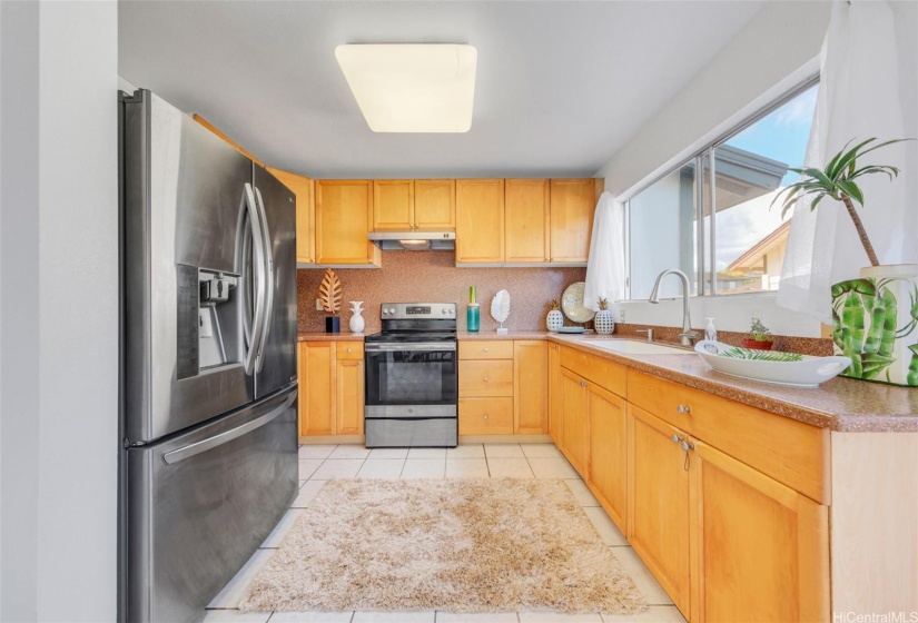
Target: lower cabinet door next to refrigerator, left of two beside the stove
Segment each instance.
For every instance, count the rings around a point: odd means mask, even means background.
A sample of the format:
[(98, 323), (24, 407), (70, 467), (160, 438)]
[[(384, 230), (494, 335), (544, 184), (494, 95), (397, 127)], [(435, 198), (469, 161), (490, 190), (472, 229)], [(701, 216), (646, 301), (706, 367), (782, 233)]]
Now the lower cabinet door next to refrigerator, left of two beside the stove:
[(335, 434), (335, 343), (299, 343), (299, 434)]

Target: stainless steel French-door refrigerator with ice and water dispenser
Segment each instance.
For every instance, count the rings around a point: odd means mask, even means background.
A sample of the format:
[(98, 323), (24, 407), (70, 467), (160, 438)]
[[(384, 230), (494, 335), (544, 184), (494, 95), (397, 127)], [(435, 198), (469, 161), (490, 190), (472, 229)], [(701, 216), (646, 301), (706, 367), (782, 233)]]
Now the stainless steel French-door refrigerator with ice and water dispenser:
[(297, 491), (296, 201), (121, 93), (121, 617), (193, 621)]

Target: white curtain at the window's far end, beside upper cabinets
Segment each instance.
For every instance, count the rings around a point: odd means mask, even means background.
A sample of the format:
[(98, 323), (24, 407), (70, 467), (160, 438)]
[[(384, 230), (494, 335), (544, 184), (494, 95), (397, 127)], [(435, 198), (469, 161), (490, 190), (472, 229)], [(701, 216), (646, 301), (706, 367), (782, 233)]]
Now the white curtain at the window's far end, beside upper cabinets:
[(599, 299), (624, 298), (624, 206), (611, 192), (600, 195), (593, 217), (583, 305), (599, 310)]

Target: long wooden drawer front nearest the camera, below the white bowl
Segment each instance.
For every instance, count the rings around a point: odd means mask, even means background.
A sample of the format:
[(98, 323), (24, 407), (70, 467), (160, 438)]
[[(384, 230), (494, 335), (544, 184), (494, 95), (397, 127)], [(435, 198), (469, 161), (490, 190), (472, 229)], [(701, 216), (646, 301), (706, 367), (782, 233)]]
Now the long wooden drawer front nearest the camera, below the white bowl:
[[(828, 431), (633, 369), (628, 399), (803, 495), (829, 503)], [(680, 405), (685, 413), (679, 413)]]

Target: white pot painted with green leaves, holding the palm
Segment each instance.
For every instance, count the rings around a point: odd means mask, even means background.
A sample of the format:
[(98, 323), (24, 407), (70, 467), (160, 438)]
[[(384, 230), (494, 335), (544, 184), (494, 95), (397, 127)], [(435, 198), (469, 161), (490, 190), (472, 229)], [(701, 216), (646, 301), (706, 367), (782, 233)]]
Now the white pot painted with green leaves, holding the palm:
[(840, 376), (918, 386), (918, 265), (861, 268), (833, 285), (832, 342), (852, 362)]

